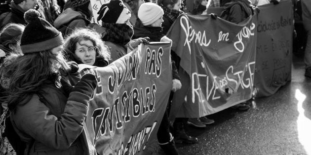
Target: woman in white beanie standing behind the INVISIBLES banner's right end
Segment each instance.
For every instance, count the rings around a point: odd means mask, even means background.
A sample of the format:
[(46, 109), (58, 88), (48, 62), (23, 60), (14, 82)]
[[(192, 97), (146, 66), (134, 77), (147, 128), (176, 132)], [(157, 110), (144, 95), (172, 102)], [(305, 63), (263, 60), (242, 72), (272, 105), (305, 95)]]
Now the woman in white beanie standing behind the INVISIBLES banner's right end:
[[(150, 41), (172, 41), (162, 34), (163, 10), (160, 6), (152, 2), (143, 3), (138, 9), (138, 19), (134, 27), (133, 38), (149, 37)], [(174, 62), (172, 62), (172, 65)], [(176, 92), (181, 88), (180, 77), (177, 68), (173, 65), (173, 85), (172, 92)], [(169, 121), (167, 110), (165, 110), (163, 119), (157, 132), (157, 140), (160, 147), (168, 155), (178, 155), (174, 137), (169, 131)]]

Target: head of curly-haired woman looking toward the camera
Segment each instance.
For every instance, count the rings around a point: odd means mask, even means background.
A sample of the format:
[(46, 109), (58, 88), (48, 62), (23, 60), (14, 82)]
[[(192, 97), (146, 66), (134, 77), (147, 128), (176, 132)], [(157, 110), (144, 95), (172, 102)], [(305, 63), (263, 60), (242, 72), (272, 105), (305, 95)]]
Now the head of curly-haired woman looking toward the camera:
[(69, 60), (98, 67), (108, 65), (110, 53), (100, 34), (87, 28), (76, 29), (64, 44), (64, 51)]

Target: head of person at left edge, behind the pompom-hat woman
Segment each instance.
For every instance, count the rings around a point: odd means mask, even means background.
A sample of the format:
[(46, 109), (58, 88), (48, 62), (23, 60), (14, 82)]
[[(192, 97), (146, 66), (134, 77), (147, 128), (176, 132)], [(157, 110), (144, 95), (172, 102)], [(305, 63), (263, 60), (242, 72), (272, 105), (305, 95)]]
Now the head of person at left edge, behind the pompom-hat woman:
[(19, 44), (24, 29), (24, 25), (10, 23), (0, 31), (0, 64), (10, 53), (22, 53)]

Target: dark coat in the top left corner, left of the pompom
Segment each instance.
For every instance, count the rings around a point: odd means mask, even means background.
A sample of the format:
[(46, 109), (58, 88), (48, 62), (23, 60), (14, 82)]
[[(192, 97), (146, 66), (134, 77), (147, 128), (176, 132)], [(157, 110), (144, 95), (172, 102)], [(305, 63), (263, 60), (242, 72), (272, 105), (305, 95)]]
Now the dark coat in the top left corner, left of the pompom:
[(0, 19), (3, 18), (2, 23), (0, 23), (0, 29), (8, 23), (17, 23), (26, 25), (24, 20), (24, 13), (26, 10), (22, 9), (20, 6), (15, 4), (13, 0), (11, 1), (11, 12), (2, 14)]

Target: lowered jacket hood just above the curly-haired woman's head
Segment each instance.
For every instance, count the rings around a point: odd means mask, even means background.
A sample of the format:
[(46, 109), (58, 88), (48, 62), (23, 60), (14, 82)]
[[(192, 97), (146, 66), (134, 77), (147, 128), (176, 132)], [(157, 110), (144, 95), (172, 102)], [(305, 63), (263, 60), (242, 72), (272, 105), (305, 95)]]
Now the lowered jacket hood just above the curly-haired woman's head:
[(90, 24), (86, 15), (72, 8), (66, 9), (54, 21), (54, 27), (64, 35), (70, 35), (76, 28), (83, 28)]

